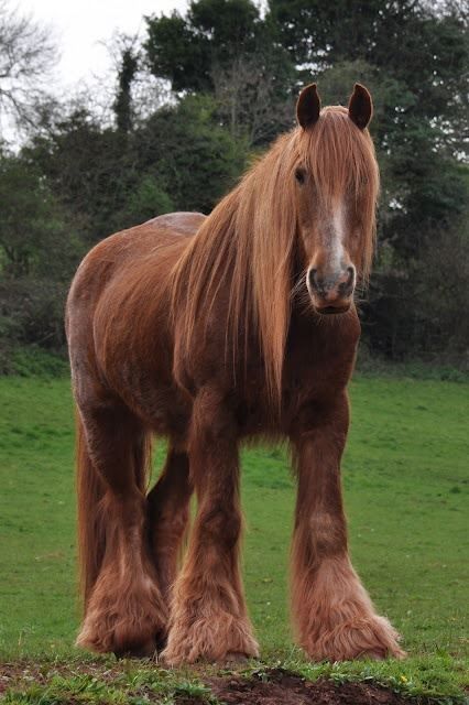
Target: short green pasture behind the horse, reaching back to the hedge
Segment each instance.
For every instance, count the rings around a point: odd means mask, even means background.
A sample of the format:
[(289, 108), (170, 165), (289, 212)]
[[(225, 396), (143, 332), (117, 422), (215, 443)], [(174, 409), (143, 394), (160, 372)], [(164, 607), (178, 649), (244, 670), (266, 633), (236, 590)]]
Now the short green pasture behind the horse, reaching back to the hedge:
[[(411, 657), (367, 668), (457, 690), (468, 655), (469, 386), (361, 377), (351, 398), (352, 558)], [(76, 659), (69, 383), (3, 378), (0, 399), (0, 655)], [(269, 663), (301, 660), (287, 621), (293, 501), (284, 452), (244, 452), (246, 586)]]

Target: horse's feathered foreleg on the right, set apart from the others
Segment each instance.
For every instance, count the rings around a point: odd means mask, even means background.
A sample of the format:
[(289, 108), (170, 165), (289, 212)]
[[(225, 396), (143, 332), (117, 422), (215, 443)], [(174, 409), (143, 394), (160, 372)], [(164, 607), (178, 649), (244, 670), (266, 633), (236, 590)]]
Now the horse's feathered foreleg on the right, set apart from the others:
[(312, 659), (402, 657), (395, 630), (375, 614), (349, 558), (340, 484), (348, 415), (343, 394), (334, 406), (298, 420), (292, 437), (298, 474), (292, 611)]

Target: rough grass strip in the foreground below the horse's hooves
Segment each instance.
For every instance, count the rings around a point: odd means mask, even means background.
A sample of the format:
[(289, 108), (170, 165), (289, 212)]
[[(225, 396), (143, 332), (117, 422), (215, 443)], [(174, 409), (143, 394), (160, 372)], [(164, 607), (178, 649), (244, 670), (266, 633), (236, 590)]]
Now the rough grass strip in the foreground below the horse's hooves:
[[(17, 662), (14, 672), (11, 664), (3, 666), (3, 673), (8, 674), (3, 702), (9, 705), (145, 705), (149, 702), (175, 705), (179, 698), (186, 702), (185, 698), (192, 697), (206, 705), (222, 705), (223, 701), (217, 699), (210, 688), (214, 676), (225, 679), (225, 683), (233, 676), (266, 683), (272, 671), (275, 673), (279, 669), (312, 682), (326, 679), (336, 686), (361, 681), (386, 687), (416, 698), (410, 701), (410, 705), (467, 705), (469, 702), (458, 685), (463, 680), (463, 664), (449, 657), (331, 664), (306, 662), (298, 652), (284, 660), (251, 662), (234, 670), (203, 664), (166, 670), (148, 660), (116, 662), (110, 657), (92, 660), (77, 654), (68, 654), (66, 660), (43, 657), (39, 663), (32, 660)], [(0, 686), (1, 681), (0, 669)], [(249, 702), (249, 697), (242, 702)], [(281, 698), (276, 695), (272, 702), (280, 705)]]

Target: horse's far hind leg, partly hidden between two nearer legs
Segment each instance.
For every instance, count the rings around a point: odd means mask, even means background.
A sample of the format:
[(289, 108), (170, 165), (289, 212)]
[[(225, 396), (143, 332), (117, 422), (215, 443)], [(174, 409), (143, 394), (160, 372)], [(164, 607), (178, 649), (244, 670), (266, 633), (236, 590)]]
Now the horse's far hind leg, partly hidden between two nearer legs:
[(170, 447), (161, 477), (148, 496), (151, 551), (166, 601), (176, 578), (192, 494), (187, 453)]

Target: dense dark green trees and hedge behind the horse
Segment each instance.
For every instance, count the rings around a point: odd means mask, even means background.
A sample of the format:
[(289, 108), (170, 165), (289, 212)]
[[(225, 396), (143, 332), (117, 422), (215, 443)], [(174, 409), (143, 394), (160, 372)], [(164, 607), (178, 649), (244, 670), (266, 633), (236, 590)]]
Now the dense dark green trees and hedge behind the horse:
[[(298, 88), (313, 78), (327, 104), (343, 104), (356, 80), (375, 102), (382, 195), (362, 302), (368, 346), (393, 359), (467, 365), (463, 4), (269, 0), (264, 10), (252, 0), (193, 0), (184, 15), (145, 18), (142, 44), (119, 45), (112, 121), (84, 102), (43, 98), (21, 151), (3, 145), (4, 369), (15, 344), (63, 346), (66, 283), (87, 248), (157, 214), (209, 212), (250, 159), (292, 127)], [(145, 105), (138, 96), (150, 79), (152, 90), (164, 82), (171, 90)], [(0, 95), (1, 87), (0, 78)]]

